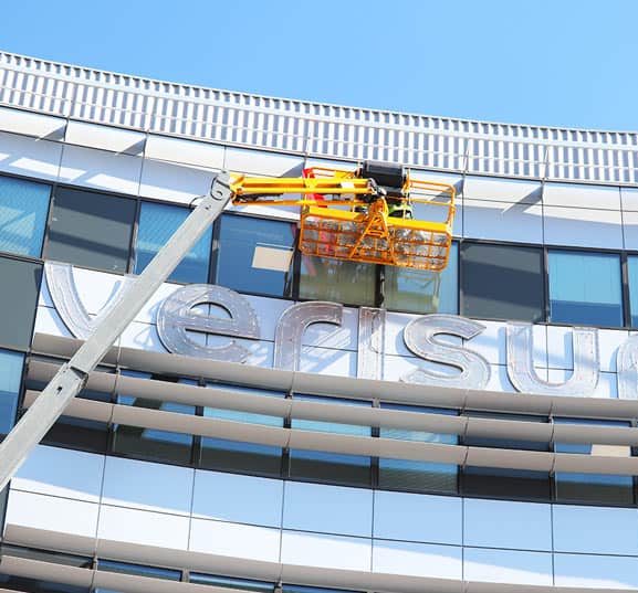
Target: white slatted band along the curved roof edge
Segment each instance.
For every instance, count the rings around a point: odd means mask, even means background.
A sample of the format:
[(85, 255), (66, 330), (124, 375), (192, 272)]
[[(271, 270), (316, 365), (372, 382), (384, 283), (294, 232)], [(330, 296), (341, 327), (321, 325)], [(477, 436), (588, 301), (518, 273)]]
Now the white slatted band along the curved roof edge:
[(638, 134), (344, 107), (164, 83), (0, 53), (0, 104), (105, 125), (349, 160), (638, 182)]

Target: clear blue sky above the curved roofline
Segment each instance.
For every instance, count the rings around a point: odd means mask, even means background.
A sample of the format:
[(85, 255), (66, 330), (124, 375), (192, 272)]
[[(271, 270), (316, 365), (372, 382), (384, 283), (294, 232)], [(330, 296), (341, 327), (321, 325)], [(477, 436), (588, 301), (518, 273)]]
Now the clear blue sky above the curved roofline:
[(6, 2), (6, 51), (266, 95), (638, 130), (638, 0)]

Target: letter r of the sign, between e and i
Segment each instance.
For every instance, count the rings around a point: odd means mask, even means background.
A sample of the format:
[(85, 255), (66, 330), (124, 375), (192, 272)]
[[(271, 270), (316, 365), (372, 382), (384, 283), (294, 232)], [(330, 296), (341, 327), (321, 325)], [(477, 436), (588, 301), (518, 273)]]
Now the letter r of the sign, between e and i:
[(336, 303), (297, 303), (281, 314), (274, 335), (274, 367), (297, 371), (304, 331), (312, 324), (342, 325), (343, 305)]

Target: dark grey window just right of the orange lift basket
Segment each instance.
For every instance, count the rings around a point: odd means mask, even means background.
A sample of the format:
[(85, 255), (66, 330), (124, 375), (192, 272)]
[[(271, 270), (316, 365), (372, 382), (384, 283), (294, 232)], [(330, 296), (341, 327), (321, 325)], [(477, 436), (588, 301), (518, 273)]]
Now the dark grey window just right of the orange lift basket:
[(544, 319), (543, 251), (464, 243), (462, 315), (485, 319)]

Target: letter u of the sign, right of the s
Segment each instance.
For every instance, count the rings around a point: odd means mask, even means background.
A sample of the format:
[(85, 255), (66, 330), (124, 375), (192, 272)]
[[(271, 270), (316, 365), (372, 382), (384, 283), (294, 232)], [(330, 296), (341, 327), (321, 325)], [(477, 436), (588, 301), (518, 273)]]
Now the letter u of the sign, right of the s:
[(534, 369), (532, 324), (508, 324), (508, 377), (517, 391), (540, 395), (575, 395), (588, 398), (598, 383), (598, 330), (572, 329), (574, 371), (564, 383), (551, 383)]

